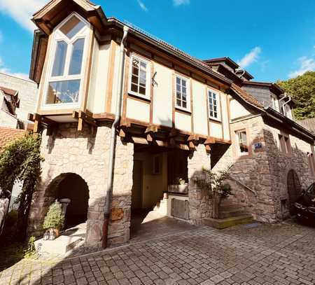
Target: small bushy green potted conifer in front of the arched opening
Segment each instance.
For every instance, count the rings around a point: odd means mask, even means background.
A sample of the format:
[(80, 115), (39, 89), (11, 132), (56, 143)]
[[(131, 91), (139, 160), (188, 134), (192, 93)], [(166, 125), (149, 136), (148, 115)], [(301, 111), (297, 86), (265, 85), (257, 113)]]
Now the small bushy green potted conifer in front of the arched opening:
[[(64, 225), (64, 215), (62, 214), (62, 204), (57, 202), (53, 202), (49, 209), (48, 213), (45, 216), (43, 222), (43, 228), (45, 230), (49, 230), (50, 232), (50, 239), (55, 239), (59, 237), (60, 230)], [(51, 238), (53, 235), (53, 238)]]

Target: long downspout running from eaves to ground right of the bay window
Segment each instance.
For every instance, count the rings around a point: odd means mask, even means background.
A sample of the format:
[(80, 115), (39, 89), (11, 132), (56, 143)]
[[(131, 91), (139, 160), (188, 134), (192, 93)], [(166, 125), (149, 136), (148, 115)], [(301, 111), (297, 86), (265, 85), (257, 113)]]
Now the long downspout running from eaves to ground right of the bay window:
[(124, 65), (125, 65), (125, 40), (129, 28), (124, 26), (123, 39), (120, 43), (120, 60), (119, 60), (119, 73), (118, 73), (118, 90), (116, 97), (116, 113), (115, 120), (111, 126), (111, 141), (109, 146), (109, 174), (107, 177), (106, 201), (104, 206), (104, 223), (102, 233), (102, 246), (104, 249), (107, 247), (107, 238), (109, 235), (109, 218), (111, 216), (111, 199), (113, 196), (113, 169), (115, 166), (115, 149), (116, 149), (116, 131), (121, 116), (121, 105), (123, 101), (123, 81), (124, 81)]

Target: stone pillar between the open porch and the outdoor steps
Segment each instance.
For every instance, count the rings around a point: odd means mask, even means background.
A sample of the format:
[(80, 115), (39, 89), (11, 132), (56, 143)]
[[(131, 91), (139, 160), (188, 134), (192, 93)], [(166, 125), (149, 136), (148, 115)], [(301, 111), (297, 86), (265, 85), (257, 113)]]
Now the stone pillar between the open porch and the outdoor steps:
[(188, 178), (189, 178), (189, 215), (190, 221), (195, 225), (201, 225), (202, 219), (207, 218), (211, 211), (211, 200), (207, 191), (197, 187), (194, 178), (199, 176), (202, 168), (210, 168), (210, 156), (207, 154), (203, 144), (197, 146), (188, 156)]

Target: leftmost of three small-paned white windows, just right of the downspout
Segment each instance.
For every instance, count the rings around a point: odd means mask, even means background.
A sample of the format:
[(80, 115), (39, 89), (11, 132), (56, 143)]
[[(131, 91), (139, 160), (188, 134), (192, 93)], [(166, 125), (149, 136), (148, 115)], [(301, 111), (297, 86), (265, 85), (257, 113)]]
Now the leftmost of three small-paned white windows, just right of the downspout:
[(150, 99), (150, 69), (150, 62), (136, 55), (130, 57), (130, 94)]

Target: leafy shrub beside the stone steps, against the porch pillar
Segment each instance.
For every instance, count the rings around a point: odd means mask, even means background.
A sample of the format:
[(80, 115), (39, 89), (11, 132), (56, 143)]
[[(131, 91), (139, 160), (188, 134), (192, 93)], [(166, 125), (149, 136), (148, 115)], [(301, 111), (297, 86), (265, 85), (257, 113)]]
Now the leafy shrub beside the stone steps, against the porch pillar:
[(210, 169), (202, 169), (202, 172), (194, 177), (198, 187), (207, 190), (210, 199), (213, 201), (211, 218), (219, 218), (220, 204), (223, 199), (232, 194), (230, 184), (225, 183), (228, 179), (232, 165), (218, 172), (212, 172)]

